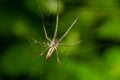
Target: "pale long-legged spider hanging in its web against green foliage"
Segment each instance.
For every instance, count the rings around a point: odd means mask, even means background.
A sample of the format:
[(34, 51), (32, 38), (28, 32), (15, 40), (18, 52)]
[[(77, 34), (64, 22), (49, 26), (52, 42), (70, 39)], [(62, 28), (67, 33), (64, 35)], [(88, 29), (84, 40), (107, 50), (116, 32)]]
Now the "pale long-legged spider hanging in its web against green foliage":
[(48, 47), (45, 48), (45, 50), (40, 54), (41, 56), (48, 50), (48, 53), (46, 55), (46, 59), (49, 59), (51, 57), (51, 55), (53, 54), (53, 52), (56, 50), (56, 54), (57, 54), (57, 62), (62, 64), (60, 59), (59, 59), (59, 56), (58, 56), (58, 49), (57, 47), (58, 46), (72, 46), (72, 45), (76, 45), (78, 43), (81, 42), (80, 41), (77, 41), (77, 42), (74, 42), (72, 44), (61, 44), (61, 41), (66, 37), (66, 35), (68, 34), (68, 32), (71, 30), (71, 28), (74, 26), (74, 24), (77, 22), (78, 17), (76, 17), (76, 19), (72, 22), (72, 24), (70, 25), (70, 27), (67, 29), (67, 31), (62, 35), (62, 37), (60, 39), (57, 39), (57, 31), (58, 31), (58, 22), (59, 22), (59, 3), (58, 3), (58, 0), (57, 0), (57, 15), (56, 15), (56, 26), (55, 26), (55, 32), (54, 32), (54, 35), (53, 35), (53, 38), (50, 39), (48, 37), (48, 34), (46, 32), (46, 28), (45, 28), (45, 25), (43, 24), (43, 29), (44, 29), (44, 34), (45, 34), (45, 38), (49, 41), (49, 44), (48, 44)]

